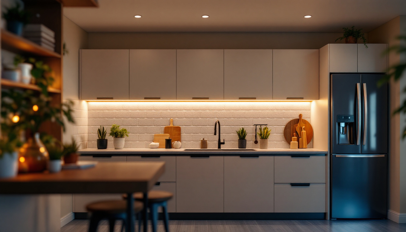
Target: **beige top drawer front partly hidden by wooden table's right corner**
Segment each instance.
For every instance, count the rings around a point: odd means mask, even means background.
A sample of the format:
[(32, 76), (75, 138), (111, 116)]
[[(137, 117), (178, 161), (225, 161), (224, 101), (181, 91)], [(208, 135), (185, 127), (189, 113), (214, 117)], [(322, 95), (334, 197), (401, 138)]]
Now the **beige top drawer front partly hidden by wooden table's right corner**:
[(127, 161), (163, 161), (165, 162), (165, 172), (159, 178), (160, 182), (176, 182), (176, 156), (142, 157), (127, 156)]

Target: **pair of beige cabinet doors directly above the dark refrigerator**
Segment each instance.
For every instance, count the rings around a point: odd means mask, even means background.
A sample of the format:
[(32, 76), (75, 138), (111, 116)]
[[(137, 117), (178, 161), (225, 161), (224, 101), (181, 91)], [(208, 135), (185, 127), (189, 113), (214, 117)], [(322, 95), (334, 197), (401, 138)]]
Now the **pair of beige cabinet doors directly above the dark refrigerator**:
[(330, 72), (384, 73), (388, 67), (386, 43), (334, 43), (330, 47)]

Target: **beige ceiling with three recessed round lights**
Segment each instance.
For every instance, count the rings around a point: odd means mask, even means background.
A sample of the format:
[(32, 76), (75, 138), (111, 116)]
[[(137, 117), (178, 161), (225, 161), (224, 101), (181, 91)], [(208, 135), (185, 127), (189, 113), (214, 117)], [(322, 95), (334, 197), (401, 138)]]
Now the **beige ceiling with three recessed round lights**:
[(406, 15), (406, 0), (99, 0), (99, 8), (65, 7), (64, 15), (89, 33), (369, 32)]

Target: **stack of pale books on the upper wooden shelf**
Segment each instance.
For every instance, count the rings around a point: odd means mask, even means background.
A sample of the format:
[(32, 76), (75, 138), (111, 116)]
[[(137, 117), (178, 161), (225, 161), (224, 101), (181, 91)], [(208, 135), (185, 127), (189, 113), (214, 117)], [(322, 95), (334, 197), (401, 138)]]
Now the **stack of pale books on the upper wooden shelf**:
[(55, 32), (43, 24), (27, 24), (24, 37), (40, 46), (55, 51)]

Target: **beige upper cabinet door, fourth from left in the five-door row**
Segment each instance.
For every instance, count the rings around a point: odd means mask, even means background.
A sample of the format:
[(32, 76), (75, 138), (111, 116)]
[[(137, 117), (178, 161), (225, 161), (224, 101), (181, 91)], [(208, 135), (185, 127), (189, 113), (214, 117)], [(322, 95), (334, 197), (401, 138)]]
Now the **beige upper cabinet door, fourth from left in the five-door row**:
[(224, 50), (224, 99), (272, 100), (272, 50)]

